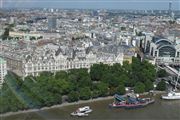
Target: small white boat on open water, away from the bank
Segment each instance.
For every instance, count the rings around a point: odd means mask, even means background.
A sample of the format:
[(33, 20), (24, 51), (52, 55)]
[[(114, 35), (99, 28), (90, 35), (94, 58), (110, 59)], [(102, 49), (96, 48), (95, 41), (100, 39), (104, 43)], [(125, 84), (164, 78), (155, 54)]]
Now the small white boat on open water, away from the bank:
[(78, 108), (75, 112), (72, 112), (72, 116), (88, 116), (88, 113), (92, 112), (92, 109), (90, 109), (89, 106), (84, 106), (81, 108)]

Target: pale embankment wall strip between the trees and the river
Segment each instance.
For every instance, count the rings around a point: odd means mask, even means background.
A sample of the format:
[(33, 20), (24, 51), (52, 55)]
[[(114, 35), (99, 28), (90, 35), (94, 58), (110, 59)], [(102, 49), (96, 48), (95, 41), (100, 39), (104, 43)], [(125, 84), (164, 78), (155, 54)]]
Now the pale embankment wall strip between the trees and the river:
[[(153, 92), (154, 95), (158, 95), (158, 94), (164, 94), (165, 91), (154, 91)], [(149, 92), (144, 92), (141, 93), (139, 95), (148, 95)], [(72, 103), (62, 103), (62, 104), (58, 104), (58, 105), (53, 105), (51, 107), (42, 107), (40, 109), (29, 109), (29, 110), (20, 110), (17, 112), (7, 112), (7, 113), (3, 113), (0, 114), (0, 117), (7, 117), (7, 116), (11, 116), (11, 115), (17, 115), (17, 114), (21, 114), (21, 113), (30, 113), (30, 112), (38, 112), (38, 111), (42, 111), (42, 110), (49, 110), (52, 108), (60, 108), (60, 107), (65, 107), (65, 106), (70, 106), (70, 105), (77, 105), (77, 104), (83, 104), (83, 103), (92, 103), (92, 102), (96, 102), (96, 101), (103, 101), (103, 100), (110, 100), (113, 99), (113, 96), (108, 96), (108, 97), (99, 97), (99, 98), (95, 98), (95, 99), (89, 99), (89, 100), (79, 100), (77, 102), (72, 102)]]

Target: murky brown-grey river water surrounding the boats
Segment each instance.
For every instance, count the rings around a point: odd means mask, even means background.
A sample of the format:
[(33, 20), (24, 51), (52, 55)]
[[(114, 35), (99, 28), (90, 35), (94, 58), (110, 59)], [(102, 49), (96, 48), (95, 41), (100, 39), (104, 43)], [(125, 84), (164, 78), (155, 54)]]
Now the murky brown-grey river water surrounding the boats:
[[(157, 97), (154, 104), (145, 108), (132, 110), (109, 108), (108, 104), (112, 102), (113, 99), (52, 108), (39, 112), (2, 117), (1, 120), (180, 120), (180, 100), (165, 101)], [(70, 116), (71, 112), (85, 105), (93, 109), (93, 112), (89, 116), (82, 118)]]

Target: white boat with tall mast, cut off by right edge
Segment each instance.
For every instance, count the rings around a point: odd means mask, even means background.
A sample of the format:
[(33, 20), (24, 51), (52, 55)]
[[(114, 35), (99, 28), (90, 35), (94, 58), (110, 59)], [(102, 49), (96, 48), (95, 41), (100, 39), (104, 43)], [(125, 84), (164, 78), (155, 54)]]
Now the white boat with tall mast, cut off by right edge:
[[(176, 86), (178, 84), (178, 80), (179, 80), (179, 73), (178, 73), (178, 77), (177, 77), (177, 80), (176, 80), (175, 89), (176, 89)], [(180, 92), (172, 90), (172, 91), (168, 92), (167, 95), (162, 95), (161, 98), (165, 99), (165, 100), (180, 100)]]

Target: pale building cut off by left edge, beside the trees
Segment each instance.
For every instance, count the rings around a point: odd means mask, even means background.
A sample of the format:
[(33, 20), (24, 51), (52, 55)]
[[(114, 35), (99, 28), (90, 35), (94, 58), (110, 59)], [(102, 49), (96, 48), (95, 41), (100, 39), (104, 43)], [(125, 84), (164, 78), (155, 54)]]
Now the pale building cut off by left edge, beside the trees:
[(0, 86), (3, 84), (4, 77), (7, 74), (6, 61), (0, 58)]

